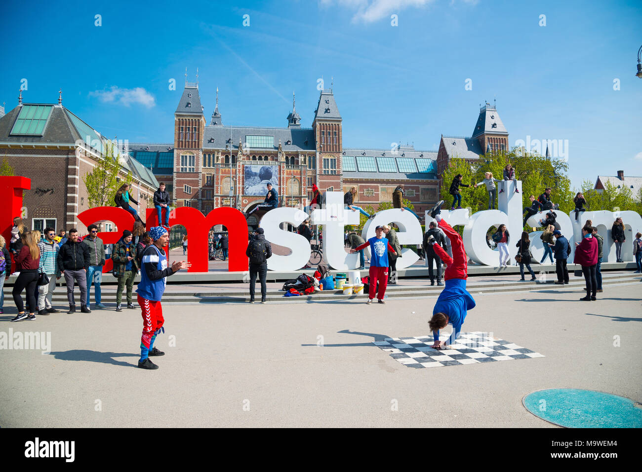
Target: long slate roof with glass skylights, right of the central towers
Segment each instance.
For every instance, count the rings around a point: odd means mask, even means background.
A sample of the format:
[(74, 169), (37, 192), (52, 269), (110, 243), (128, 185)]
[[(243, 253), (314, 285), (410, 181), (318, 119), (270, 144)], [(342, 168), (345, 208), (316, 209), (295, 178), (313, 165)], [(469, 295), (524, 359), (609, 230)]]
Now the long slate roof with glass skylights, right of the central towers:
[[(385, 155), (384, 155), (385, 154)], [(371, 156), (374, 158), (377, 157), (388, 157), (388, 158), (424, 158), (432, 159), (434, 161), (435, 173), (422, 173), (422, 172), (413, 172), (413, 173), (404, 173), (404, 172), (364, 172), (358, 170), (357, 165), (356, 171), (345, 171), (343, 170), (343, 178), (360, 178), (360, 179), (394, 179), (394, 180), (436, 180), (437, 179), (437, 151), (421, 151), (420, 149), (415, 149), (413, 147), (404, 147), (400, 146), (397, 149), (397, 153), (394, 154), (390, 148), (388, 149), (364, 149), (364, 148), (343, 148), (343, 156)], [(378, 168), (378, 165), (377, 165)], [(397, 165), (397, 170), (399, 166)]]

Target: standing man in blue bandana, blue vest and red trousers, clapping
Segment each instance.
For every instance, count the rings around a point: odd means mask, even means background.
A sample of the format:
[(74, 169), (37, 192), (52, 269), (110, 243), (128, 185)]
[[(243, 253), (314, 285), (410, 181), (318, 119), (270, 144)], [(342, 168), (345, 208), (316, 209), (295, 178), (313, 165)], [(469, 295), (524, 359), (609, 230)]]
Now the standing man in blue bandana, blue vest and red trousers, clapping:
[(169, 244), (169, 234), (162, 226), (154, 226), (150, 230), (153, 244), (145, 248), (143, 267), (141, 267), (141, 282), (136, 292), (138, 305), (143, 314), (143, 335), (141, 336), (141, 358), (138, 367), (141, 369), (158, 369), (159, 366), (150, 360), (150, 356), (162, 356), (165, 353), (154, 347), (154, 341), (163, 328), (164, 318), (160, 299), (165, 292), (166, 278), (177, 273), (180, 269), (189, 269), (191, 264), (185, 260), (177, 260), (167, 266), (165, 249)]

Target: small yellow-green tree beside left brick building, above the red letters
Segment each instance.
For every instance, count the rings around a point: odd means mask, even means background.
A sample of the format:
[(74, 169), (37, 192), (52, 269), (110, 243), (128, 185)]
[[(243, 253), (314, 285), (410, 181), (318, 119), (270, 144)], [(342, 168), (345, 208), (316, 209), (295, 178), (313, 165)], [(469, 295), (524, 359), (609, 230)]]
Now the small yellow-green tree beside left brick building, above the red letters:
[[(83, 176), (82, 180), (87, 187), (87, 203), (89, 208), (95, 207), (114, 207), (114, 196), (116, 190), (122, 185), (119, 181), (119, 172), (121, 165), (118, 162), (118, 151), (114, 155), (115, 146), (110, 141), (104, 142), (105, 151), (103, 156), (96, 163), (96, 167)], [(131, 174), (127, 173), (126, 182), (132, 180)]]

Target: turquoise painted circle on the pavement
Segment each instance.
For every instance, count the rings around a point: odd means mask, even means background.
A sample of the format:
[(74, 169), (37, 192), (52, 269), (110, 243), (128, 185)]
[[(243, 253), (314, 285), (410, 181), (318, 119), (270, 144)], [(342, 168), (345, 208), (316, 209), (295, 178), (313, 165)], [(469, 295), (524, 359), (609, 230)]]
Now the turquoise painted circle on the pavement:
[(593, 390), (545, 389), (522, 403), (549, 423), (566, 428), (642, 428), (642, 408), (629, 398)]

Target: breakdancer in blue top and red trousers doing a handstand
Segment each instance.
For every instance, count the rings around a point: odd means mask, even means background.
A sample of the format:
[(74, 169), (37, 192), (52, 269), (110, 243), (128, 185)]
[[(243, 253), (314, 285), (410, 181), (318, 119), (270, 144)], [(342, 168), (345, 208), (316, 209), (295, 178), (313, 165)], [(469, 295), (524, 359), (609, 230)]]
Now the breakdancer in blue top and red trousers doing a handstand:
[[(428, 244), (432, 245), (433, 250), (440, 259), (446, 264), (444, 280), (446, 287), (439, 294), (437, 303), (433, 308), (433, 316), (428, 321), (428, 326), (433, 332), (434, 344), (431, 346), (435, 349), (446, 347), (447, 344), (453, 344), (459, 336), (466, 318), (467, 310), (475, 307), (475, 301), (471, 294), (466, 291), (466, 279), (468, 278), (468, 257), (464, 249), (464, 242), (458, 232), (453, 230), (440, 215), (441, 206), (444, 201), (440, 201), (433, 207), (430, 216), (437, 220), (441, 228), (451, 242), (453, 257), (450, 257), (444, 249), (438, 244), (434, 237), (428, 238)], [(446, 328), (446, 325), (453, 325), (453, 333), (448, 341), (439, 341), (439, 330)]]

